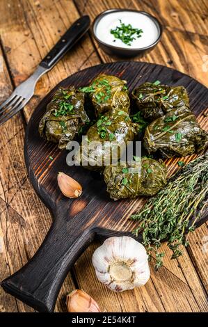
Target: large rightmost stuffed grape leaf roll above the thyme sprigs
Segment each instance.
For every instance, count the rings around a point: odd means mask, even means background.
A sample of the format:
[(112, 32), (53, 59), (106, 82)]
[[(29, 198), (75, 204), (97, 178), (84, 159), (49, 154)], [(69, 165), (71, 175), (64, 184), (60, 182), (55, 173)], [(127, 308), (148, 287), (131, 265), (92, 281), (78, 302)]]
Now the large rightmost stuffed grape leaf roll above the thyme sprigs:
[(207, 132), (200, 128), (188, 108), (173, 109), (145, 129), (144, 147), (147, 152), (159, 151), (165, 158), (198, 153), (206, 143)]

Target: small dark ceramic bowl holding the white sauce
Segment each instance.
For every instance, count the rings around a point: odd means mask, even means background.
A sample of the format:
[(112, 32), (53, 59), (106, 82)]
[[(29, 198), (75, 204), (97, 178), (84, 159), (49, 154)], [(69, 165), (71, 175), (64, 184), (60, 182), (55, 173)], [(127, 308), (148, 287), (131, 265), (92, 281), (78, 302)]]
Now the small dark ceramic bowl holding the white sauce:
[[(150, 19), (152, 19), (152, 21), (157, 26), (157, 29), (159, 31), (159, 36), (158, 36), (157, 40), (154, 43), (152, 43), (152, 45), (149, 45), (148, 47), (143, 47), (143, 48), (138, 48), (138, 49), (136, 49), (136, 48), (127, 49), (127, 48), (122, 48), (122, 47), (115, 47), (114, 45), (108, 45), (107, 43), (103, 42), (102, 40), (99, 40), (99, 38), (97, 38), (97, 35), (96, 35), (96, 29), (97, 29), (97, 24), (99, 23), (100, 19), (102, 19), (102, 17), (104, 17), (106, 15), (109, 15), (109, 13), (115, 13), (115, 12), (120, 12), (120, 11), (131, 11), (134, 13), (141, 13), (143, 15), (147, 15), (148, 17), (150, 17)], [(155, 45), (157, 45), (157, 43), (161, 39), (162, 32), (163, 32), (163, 27), (161, 26), (161, 23), (159, 22), (159, 20), (157, 18), (150, 15), (149, 13), (146, 13), (145, 11), (139, 11), (139, 10), (131, 10), (131, 9), (105, 10), (102, 13), (100, 13), (99, 15), (97, 15), (97, 17), (95, 17), (94, 22), (93, 22), (93, 37), (95, 38), (95, 40), (97, 41), (99, 46), (106, 52), (106, 54), (110, 54), (111, 56), (112, 55), (122, 56), (122, 57), (132, 57), (132, 56), (138, 56), (138, 55), (143, 56), (143, 54), (146, 54), (147, 52), (152, 50), (155, 47)]]

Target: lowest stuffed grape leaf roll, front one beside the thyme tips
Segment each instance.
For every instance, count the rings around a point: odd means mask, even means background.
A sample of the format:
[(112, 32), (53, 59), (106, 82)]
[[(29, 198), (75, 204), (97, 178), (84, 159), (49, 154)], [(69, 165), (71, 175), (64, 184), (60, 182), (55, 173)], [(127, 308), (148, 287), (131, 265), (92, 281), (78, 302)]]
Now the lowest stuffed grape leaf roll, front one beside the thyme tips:
[(107, 192), (114, 200), (154, 196), (167, 183), (166, 166), (161, 160), (137, 158), (131, 163), (106, 166), (104, 180)]

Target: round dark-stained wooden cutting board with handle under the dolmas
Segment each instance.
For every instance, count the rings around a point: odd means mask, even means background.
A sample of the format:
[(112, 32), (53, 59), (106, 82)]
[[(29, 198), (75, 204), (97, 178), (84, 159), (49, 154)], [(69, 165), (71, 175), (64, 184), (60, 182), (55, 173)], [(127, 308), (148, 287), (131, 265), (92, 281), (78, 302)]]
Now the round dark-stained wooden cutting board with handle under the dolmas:
[[(101, 177), (79, 166), (67, 166), (67, 151), (58, 150), (56, 145), (44, 141), (38, 134), (40, 118), (58, 87), (87, 86), (100, 73), (127, 80), (130, 92), (145, 81), (159, 80), (170, 86), (185, 86), (191, 109), (198, 117), (200, 126), (208, 129), (208, 118), (203, 114), (208, 106), (208, 89), (177, 70), (150, 63), (124, 62), (90, 67), (61, 81), (40, 102), (26, 129), (24, 154), (31, 183), (50, 209), (54, 223), (34, 257), (13, 276), (3, 280), (1, 286), (6, 292), (42, 312), (54, 310), (65, 276), (95, 235), (110, 237), (127, 234), (133, 237), (131, 230), (136, 223), (130, 221), (129, 216), (145, 203), (144, 198), (117, 202), (111, 200)], [(183, 160), (188, 162), (194, 157)], [(178, 160), (182, 159), (166, 161), (169, 174), (178, 168)], [(59, 171), (80, 182), (83, 187), (81, 198), (70, 200), (62, 195), (56, 180)], [(203, 216), (198, 226), (206, 219)], [(141, 235), (137, 239), (141, 241)]]

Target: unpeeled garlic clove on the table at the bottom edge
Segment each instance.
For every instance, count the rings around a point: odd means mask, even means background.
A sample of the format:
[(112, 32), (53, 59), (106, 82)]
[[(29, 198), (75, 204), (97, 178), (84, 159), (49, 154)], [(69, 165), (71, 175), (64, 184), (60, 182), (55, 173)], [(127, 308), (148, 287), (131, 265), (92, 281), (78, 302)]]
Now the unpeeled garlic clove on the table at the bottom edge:
[(75, 289), (67, 295), (68, 312), (101, 312), (97, 302), (81, 289)]

